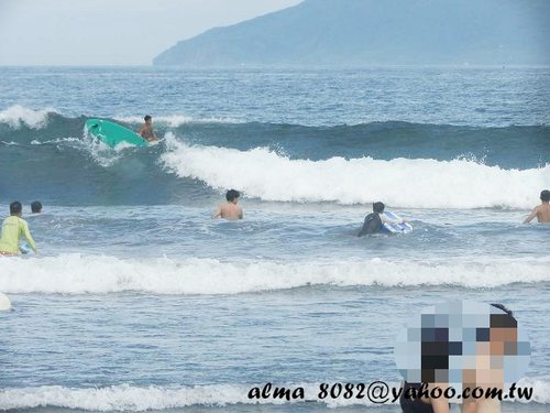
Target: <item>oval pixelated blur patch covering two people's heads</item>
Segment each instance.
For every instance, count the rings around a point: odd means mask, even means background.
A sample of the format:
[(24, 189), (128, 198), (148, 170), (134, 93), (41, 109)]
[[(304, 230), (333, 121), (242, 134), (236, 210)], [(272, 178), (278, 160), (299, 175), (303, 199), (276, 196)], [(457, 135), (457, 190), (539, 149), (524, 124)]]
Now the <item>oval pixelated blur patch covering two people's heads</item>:
[(397, 368), (407, 382), (502, 387), (527, 370), (530, 345), (516, 319), (471, 301), (428, 307), (397, 337)]

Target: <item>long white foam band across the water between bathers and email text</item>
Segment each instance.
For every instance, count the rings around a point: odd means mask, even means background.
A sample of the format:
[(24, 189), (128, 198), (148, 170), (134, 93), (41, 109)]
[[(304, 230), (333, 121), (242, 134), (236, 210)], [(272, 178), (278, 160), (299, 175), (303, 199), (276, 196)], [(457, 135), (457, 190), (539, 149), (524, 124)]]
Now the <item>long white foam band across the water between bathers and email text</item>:
[(549, 259), (272, 262), (62, 254), (0, 260), (3, 293), (238, 294), (307, 285), (496, 287), (550, 281)]

